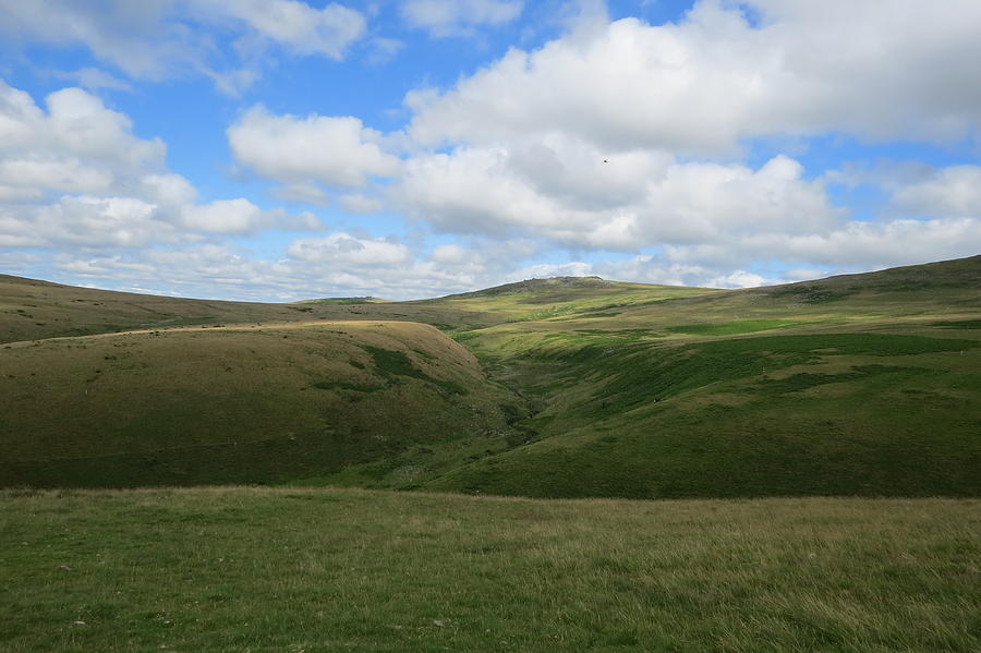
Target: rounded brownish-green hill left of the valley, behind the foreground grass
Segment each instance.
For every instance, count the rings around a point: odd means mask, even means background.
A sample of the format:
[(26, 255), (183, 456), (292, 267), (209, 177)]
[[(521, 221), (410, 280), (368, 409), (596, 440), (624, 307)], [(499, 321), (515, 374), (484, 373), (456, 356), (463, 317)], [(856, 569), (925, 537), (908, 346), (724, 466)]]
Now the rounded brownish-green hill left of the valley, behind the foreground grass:
[[(9, 344), (0, 484), (275, 482), (508, 446), (512, 395), (414, 323), (184, 328)], [(446, 455), (443, 452), (441, 455)], [(389, 469), (411, 482), (417, 470)]]

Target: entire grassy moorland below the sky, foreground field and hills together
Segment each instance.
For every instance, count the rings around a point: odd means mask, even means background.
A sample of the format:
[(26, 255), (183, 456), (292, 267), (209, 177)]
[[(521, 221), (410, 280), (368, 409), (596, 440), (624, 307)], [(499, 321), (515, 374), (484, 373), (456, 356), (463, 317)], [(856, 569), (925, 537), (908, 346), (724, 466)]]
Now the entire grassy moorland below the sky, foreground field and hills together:
[(0, 276), (0, 340), (5, 651), (981, 648), (981, 256), (413, 302)]

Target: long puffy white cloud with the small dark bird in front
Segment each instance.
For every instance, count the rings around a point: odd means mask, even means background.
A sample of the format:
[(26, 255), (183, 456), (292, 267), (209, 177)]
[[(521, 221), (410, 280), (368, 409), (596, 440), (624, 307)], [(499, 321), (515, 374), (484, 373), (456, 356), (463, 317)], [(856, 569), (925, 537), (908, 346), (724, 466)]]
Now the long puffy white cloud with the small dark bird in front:
[(823, 186), (801, 179), (801, 166), (783, 156), (751, 170), (657, 153), (608, 162), (595, 150), (567, 154), (540, 144), (416, 156), (392, 197), (445, 232), (523, 233), (623, 251), (724, 242), (736, 233), (810, 233), (837, 219)]

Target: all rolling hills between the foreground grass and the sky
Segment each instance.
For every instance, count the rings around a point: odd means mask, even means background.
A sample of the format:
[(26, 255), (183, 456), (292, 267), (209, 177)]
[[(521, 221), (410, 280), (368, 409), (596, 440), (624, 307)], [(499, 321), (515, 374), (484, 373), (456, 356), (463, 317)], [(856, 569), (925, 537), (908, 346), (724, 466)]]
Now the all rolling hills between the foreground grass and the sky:
[(355, 300), (4, 278), (0, 482), (981, 496), (981, 257), (739, 291), (562, 277)]

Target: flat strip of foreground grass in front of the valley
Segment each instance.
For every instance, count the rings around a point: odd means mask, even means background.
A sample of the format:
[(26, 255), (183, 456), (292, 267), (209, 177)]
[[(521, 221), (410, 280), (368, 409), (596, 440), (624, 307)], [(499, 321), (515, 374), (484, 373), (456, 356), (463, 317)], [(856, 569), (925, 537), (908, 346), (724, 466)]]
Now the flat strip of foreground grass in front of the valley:
[(3, 651), (978, 651), (981, 501), (0, 493)]

